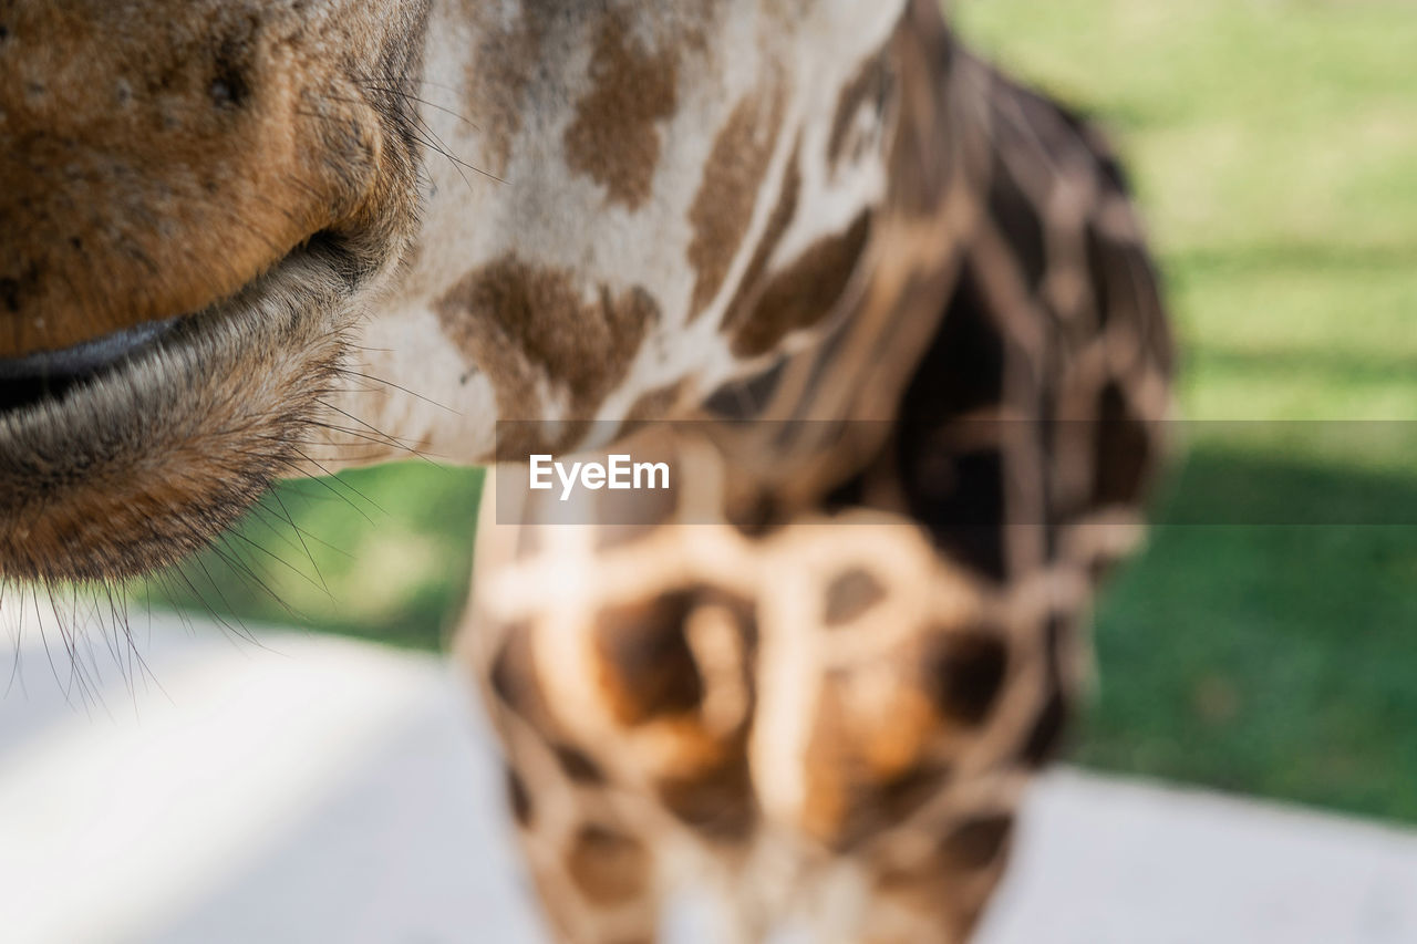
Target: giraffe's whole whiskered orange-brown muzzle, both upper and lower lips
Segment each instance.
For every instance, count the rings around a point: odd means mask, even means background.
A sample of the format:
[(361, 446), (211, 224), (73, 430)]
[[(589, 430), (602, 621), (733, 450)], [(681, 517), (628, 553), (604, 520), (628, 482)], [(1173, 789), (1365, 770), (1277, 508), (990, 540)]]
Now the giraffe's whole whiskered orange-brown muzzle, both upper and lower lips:
[(177, 563), (305, 472), (417, 224), (425, 14), (0, 0), (0, 588)]

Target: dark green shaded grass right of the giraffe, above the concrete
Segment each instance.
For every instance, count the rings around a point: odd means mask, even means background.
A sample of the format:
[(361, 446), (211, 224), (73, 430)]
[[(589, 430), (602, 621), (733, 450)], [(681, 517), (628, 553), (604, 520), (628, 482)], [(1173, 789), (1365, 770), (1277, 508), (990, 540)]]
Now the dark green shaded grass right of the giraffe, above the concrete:
[[(1100, 607), (1076, 755), (1417, 821), (1417, 527), (1377, 523), (1417, 522), (1417, 476), (1202, 444), (1168, 493)], [(1370, 523), (1223, 523), (1305, 507)]]

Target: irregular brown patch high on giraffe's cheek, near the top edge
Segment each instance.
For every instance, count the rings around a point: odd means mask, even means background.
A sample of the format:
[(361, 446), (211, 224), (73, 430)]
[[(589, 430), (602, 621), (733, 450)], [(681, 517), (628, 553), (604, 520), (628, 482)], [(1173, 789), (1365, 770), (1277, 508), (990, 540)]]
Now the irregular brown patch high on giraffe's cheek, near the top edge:
[(677, 60), (652, 54), (629, 35), (622, 16), (605, 20), (591, 54), (591, 91), (565, 129), (565, 163), (635, 210), (649, 198), (659, 164), (656, 123), (674, 113)]

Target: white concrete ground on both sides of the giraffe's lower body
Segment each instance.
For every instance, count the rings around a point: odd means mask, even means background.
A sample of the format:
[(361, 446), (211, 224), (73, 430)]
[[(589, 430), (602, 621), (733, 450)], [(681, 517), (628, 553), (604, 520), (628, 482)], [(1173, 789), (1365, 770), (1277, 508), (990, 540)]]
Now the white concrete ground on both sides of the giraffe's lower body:
[[(487, 733), (441, 661), (142, 617), (147, 670), (91, 639), (105, 678), (67, 693), (54, 628), (51, 668), (33, 612), (16, 622), (0, 614), (20, 661), (0, 662), (4, 944), (543, 940)], [(1417, 836), (1060, 771), (981, 940), (1411, 943)]]

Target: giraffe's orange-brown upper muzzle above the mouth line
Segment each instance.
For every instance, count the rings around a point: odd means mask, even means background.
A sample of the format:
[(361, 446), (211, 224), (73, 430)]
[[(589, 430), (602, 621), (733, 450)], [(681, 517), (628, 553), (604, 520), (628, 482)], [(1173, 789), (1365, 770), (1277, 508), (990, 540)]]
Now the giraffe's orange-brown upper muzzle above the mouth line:
[(313, 16), (0, 4), (0, 359), (102, 347), (376, 225), (390, 123)]

